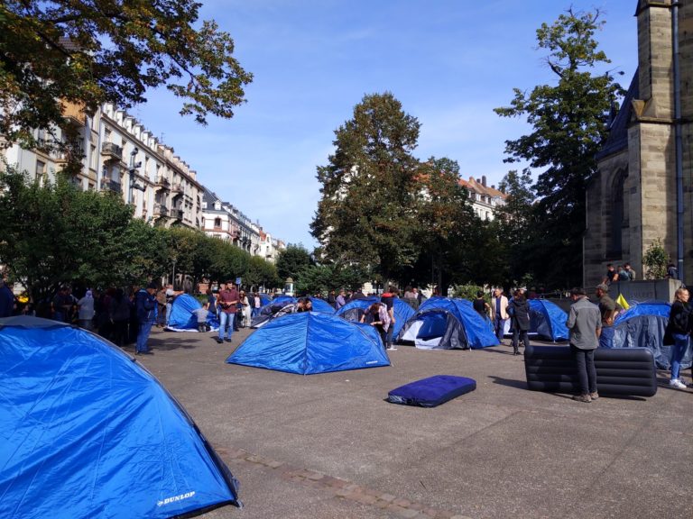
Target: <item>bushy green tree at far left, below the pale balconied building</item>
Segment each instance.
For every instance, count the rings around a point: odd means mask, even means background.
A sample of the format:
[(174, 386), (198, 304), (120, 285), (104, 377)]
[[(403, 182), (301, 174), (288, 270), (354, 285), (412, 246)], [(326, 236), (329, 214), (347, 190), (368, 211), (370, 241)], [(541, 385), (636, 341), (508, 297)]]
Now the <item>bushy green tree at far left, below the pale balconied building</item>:
[(0, 173), (0, 193), (0, 263), (34, 301), (64, 283), (143, 283), (165, 269), (159, 232), (132, 220), (116, 196), (81, 191), (62, 176), (27, 183), (14, 168)]

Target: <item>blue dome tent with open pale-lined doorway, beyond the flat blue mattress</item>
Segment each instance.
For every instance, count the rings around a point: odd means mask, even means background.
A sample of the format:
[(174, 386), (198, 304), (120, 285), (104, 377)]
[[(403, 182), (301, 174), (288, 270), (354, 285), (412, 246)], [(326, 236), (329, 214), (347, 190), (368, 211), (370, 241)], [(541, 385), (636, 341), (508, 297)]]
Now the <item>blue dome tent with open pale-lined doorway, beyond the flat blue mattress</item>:
[(397, 341), (411, 341), (424, 350), (466, 350), (498, 344), (490, 320), (477, 314), (470, 301), (431, 299), (404, 324)]

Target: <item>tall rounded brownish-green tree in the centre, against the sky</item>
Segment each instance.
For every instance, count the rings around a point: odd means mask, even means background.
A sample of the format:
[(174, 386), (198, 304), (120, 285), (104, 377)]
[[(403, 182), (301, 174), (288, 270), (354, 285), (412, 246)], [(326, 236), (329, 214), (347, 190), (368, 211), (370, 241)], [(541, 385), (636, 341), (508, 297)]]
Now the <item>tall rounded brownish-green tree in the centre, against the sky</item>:
[(386, 280), (417, 257), (420, 123), (390, 93), (365, 96), (340, 126), (335, 152), (318, 168), (322, 187), (311, 223), (323, 259), (373, 268)]

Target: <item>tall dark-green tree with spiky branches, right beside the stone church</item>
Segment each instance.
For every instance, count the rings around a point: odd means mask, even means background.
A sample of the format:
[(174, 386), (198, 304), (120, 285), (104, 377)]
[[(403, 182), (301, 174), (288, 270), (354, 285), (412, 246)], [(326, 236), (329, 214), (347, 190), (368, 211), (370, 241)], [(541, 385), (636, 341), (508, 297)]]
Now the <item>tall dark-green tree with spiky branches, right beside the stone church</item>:
[(596, 152), (606, 136), (605, 114), (623, 89), (598, 50), (595, 32), (604, 22), (599, 10), (569, 9), (537, 30), (541, 50), (556, 84), (534, 87), (529, 94), (515, 88), (510, 106), (496, 108), (504, 117), (525, 117), (532, 131), (505, 141), (508, 162), (524, 160), (541, 170), (535, 184), (541, 229), (533, 246), (539, 281), (551, 286), (576, 285), (582, 277), (582, 232), (585, 190), (596, 171)]

